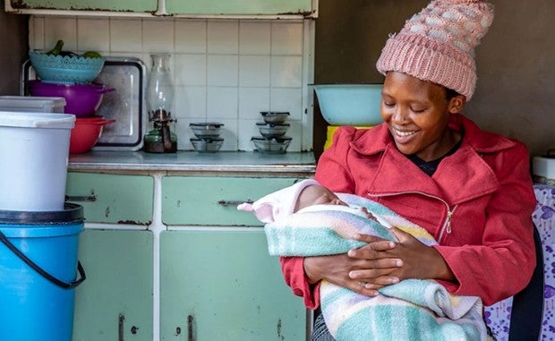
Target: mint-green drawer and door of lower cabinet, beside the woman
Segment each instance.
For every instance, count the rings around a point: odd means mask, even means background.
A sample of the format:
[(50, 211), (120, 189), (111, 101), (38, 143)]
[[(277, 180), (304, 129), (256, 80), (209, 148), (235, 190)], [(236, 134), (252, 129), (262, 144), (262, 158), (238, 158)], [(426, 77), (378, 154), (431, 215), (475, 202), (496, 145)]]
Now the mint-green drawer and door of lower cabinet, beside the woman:
[(162, 221), (169, 229), (160, 235), (162, 340), (305, 338), (303, 302), (285, 285), (277, 258), (269, 256), (263, 229), (253, 227), (260, 221), (236, 209), (297, 180), (162, 178)]

